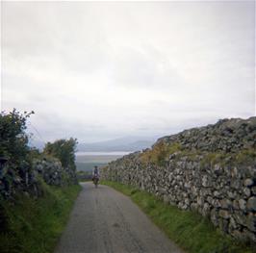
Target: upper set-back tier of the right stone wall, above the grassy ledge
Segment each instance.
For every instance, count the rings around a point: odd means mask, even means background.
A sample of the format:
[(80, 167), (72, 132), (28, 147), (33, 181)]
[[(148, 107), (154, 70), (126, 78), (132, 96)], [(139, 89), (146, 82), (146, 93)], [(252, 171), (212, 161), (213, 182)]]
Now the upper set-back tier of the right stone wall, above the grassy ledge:
[(208, 152), (238, 152), (256, 148), (256, 117), (221, 119), (217, 124), (185, 130), (177, 135), (158, 139), (166, 143), (179, 142), (190, 150)]

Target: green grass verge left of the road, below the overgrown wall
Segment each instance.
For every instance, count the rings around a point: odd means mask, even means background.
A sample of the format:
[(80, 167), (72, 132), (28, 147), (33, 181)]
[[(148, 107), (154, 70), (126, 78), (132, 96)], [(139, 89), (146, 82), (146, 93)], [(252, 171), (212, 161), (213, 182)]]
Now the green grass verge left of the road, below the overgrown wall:
[(80, 186), (66, 188), (42, 184), (43, 196), (19, 195), (15, 204), (1, 201), (5, 224), (0, 230), (2, 253), (50, 253), (54, 251)]

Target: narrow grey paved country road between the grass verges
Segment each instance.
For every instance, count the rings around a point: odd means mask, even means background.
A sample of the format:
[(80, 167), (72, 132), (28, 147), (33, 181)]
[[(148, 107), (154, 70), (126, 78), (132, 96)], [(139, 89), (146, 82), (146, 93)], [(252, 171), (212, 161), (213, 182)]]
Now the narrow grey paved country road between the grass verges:
[(55, 253), (180, 253), (123, 194), (83, 183)]

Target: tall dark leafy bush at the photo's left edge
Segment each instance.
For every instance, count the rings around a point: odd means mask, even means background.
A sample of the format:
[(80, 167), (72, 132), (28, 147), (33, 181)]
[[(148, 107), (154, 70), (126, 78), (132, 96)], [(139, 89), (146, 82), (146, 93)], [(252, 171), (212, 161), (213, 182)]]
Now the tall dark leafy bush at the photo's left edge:
[(32, 171), (31, 155), (37, 151), (31, 152), (29, 137), (25, 133), (26, 121), (31, 114), (34, 112), (20, 114), (15, 109), (9, 114), (0, 114), (0, 157), (7, 161), (5, 167), (0, 169), (0, 195), (5, 197), (10, 197), (14, 189), (21, 190), (26, 174)]

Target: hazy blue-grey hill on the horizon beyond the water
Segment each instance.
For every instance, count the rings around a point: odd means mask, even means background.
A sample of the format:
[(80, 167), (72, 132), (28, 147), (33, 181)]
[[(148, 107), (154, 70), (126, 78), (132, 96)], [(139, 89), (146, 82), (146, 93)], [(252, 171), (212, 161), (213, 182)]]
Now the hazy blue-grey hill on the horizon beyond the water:
[(120, 139), (111, 139), (94, 143), (79, 143), (78, 151), (92, 152), (113, 152), (113, 151), (138, 151), (148, 147), (156, 141), (156, 139), (125, 137)]

